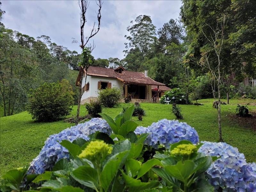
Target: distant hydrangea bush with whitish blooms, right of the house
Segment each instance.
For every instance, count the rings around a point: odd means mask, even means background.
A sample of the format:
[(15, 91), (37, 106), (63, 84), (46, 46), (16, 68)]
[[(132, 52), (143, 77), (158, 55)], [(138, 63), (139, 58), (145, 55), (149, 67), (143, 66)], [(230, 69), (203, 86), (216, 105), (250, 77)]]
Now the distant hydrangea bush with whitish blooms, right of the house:
[(160, 103), (162, 104), (186, 104), (185, 93), (179, 88), (173, 88), (170, 91), (166, 91), (164, 95), (160, 98)]

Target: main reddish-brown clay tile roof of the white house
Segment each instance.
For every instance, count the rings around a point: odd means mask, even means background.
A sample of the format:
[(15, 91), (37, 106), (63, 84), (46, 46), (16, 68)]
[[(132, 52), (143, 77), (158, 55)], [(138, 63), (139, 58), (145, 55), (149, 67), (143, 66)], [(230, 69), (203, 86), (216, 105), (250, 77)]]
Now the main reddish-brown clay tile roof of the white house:
[[(79, 74), (80, 74), (80, 71), (79, 71)], [(95, 67), (95, 66), (90, 66), (88, 68), (87, 75), (116, 78), (124, 83), (148, 84), (148, 85), (159, 85), (159, 86), (165, 85), (157, 81), (154, 81), (150, 77), (145, 77), (144, 73), (141, 73), (141, 72), (124, 70), (122, 71), (122, 73), (117, 73), (114, 69)], [(81, 78), (81, 75), (80, 76), (78, 75), (76, 84), (78, 83), (80, 78)]]

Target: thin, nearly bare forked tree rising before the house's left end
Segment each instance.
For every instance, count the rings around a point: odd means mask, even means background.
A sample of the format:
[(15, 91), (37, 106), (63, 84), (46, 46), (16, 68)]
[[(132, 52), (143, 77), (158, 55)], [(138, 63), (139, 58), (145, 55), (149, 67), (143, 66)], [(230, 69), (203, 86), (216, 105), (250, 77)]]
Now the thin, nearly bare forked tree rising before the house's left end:
[[(98, 13), (97, 13), (97, 20), (98, 20), (98, 26), (95, 28), (96, 22), (94, 22), (94, 25), (92, 27), (90, 36), (84, 38), (84, 26), (86, 23), (86, 12), (88, 9), (88, 1), (87, 0), (80, 0), (79, 1), (79, 7), (80, 7), (80, 35), (81, 35), (81, 44), (80, 47), (82, 48), (82, 61), (81, 61), (81, 68), (82, 73), (84, 73), (85, 69), (85, 83), (86, 83), (86, 78), (87, 78), (87, 70), (89, 66), (92, 64), (92, 57), (91, 57), (91, 52), (95, 48), (95, 46), (92, 44), (92, 46), (89, 44), (89, 46), (86, 47), (88, 44), (89, 40), (95, 36), (99, 30), (100, 30), (100, 19), (101, 19), (101, 7), (102, 7), (102, 2), (101, 0), (98, 0), (97, 5), (99, 7)], [(77, 112), (76, 112), (76, 125), (78, 124), (78, 117), (79, 117), (79, 112), (80, 112), (80, 103), (81, 103), (81, 97), (82, 97), (82, 81), (83, 81), (83, 75), (81, 75), (81, 79), (79, 81), (79, 95), (78, 95), (78, 102), (77, 102)]]

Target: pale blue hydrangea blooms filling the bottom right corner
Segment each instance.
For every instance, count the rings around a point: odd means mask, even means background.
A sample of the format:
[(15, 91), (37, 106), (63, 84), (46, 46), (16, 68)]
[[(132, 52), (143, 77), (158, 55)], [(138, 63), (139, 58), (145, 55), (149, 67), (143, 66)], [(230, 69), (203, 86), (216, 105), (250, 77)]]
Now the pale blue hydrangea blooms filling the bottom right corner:
[(221, 187), (223, 191), (256, 191), (255, 163), (247, 164), (244, 154), (227, 143), (203, 143), (199, 152), (220, 157), (205, 173), (216, 190)]

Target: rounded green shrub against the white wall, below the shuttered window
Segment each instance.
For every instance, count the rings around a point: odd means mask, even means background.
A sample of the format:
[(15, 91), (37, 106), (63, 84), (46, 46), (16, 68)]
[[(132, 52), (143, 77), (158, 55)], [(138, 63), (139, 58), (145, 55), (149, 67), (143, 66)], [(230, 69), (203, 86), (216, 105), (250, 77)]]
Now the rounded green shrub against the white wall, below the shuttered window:
[(104, 107), (115, 107), (121, 99), (121, 91), (117, 87), (101, 89), (98, 91), (98, 100)]

